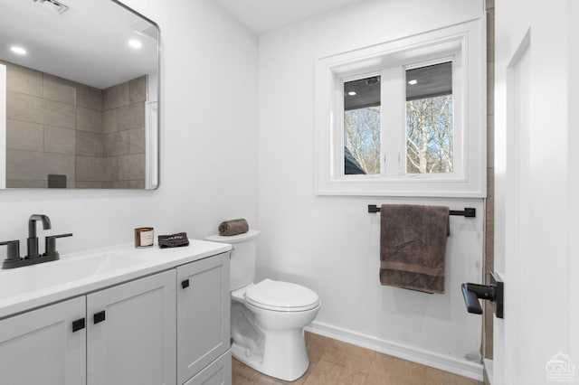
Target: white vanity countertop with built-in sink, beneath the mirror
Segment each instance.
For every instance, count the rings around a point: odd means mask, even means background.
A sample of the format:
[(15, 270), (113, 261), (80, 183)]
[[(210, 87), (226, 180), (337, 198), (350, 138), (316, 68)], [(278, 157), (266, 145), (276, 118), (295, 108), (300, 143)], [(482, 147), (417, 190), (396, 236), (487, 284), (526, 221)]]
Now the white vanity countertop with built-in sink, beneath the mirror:
[(0, 270), (0, 319), (118, 285), (232, 249), (189, 239), (189, 246), (136, 249), (132, 244), (91, 249), (24, 268)]

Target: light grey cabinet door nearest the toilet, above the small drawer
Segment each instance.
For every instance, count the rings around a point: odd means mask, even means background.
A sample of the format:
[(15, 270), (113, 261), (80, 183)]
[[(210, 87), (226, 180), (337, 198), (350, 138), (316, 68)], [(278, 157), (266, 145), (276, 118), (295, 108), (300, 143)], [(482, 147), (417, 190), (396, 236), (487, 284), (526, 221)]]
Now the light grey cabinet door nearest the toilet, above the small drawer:
[(229, 350), (229, 253), (177, 268), (177, 380)]

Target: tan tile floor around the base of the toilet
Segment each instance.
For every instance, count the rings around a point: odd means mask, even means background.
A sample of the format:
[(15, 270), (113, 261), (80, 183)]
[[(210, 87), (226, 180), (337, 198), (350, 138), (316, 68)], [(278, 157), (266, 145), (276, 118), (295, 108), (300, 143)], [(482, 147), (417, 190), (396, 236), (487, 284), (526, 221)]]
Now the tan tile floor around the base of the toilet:
[(276, 380), (233, 359), (233, 385), (481, 385), (482, 382), (306, 332), (309, 369)]

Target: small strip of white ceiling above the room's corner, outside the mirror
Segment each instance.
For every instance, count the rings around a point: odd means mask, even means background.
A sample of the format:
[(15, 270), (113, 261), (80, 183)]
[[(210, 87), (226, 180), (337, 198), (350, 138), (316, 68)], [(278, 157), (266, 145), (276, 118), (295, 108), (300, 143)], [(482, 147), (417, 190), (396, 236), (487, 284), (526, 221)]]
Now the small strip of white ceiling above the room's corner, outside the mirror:
[(217, 0), (256, 34), (299, 23), (368, 0)]

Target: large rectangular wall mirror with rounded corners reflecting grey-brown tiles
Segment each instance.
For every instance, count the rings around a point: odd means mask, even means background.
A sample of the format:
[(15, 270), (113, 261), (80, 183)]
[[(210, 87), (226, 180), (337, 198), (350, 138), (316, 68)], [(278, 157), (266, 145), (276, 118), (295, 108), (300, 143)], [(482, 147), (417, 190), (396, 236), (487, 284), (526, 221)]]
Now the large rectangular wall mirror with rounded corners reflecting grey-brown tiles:
[(0, 188), (156, 189), (157, 24), (115, 0), (0, 10)]

